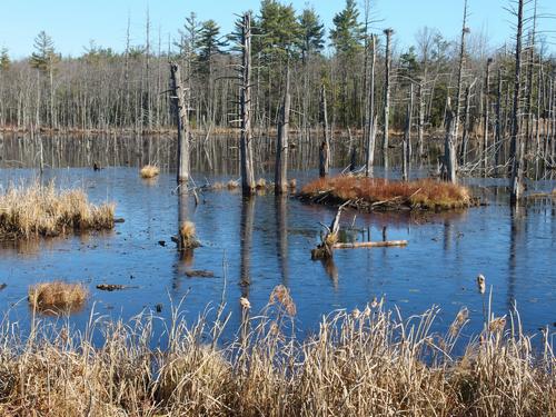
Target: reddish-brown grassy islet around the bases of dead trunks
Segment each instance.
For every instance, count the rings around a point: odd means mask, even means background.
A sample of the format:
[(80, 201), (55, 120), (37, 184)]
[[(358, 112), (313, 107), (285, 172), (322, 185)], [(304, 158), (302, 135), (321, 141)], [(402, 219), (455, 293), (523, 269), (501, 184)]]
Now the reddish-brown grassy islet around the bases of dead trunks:
[(307, 183), (302, 198), (319, 202), (351, 200), (364, 209), (411, 208), (445, 210), (471, 205), (466, 187), (433, 179), (389, 181), (379, 178), (339, 176), (319, 178)]

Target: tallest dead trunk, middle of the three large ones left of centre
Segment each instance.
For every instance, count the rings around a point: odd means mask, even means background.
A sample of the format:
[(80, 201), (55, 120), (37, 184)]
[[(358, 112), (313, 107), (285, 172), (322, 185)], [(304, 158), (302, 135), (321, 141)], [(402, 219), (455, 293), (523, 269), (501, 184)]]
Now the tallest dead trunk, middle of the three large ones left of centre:
[(255, 192), (255, 172), (251, 147), (251, 14), (245, 13), (241, 24), (241, 190), (250, 196)]

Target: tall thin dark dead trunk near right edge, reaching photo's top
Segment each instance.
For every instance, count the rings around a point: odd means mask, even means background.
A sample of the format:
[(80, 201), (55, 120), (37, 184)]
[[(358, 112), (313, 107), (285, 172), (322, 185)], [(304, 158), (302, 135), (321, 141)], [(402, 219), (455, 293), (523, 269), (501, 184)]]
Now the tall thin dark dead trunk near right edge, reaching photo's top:
[(516, 33), (516, 70), (514, 75), (514, 113), (512, 116), (512, 142), (509, 157), (512, 160), (512, 179), (509, 182), (509, 203), (516, 206), (522, 197), (523, 167), (522, 149), (523, 140), (519, 140), (519, 113), (520, 113), (520, 90), (522, 90), (522, 37), (523, 37), (523, 9), (524, 0), (518, 0), (517, 7), (517, 33)]

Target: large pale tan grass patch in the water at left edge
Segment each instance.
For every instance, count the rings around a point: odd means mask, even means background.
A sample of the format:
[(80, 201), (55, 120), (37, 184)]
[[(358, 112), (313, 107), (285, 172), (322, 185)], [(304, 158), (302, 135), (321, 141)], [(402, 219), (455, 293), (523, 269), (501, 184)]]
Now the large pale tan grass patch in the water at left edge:
[(90, 203), (82, 189), (57, 190), (38, 181), (10, 187), (0, 195), (0, 239), (111, 229), (113, 210), (112, 203)]

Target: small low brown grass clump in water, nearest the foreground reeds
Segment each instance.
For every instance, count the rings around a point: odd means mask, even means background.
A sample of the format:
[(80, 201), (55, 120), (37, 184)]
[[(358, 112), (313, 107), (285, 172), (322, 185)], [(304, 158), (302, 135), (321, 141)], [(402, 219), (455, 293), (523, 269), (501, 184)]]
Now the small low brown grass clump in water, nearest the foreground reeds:
[(29, 304), (38, 311), (75, 311), (81, 308), (89, 291), (81, 284), (39, 282), (29, 287)]

